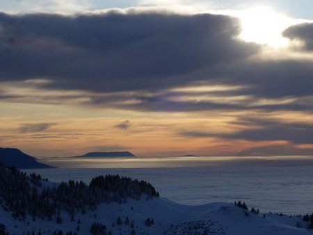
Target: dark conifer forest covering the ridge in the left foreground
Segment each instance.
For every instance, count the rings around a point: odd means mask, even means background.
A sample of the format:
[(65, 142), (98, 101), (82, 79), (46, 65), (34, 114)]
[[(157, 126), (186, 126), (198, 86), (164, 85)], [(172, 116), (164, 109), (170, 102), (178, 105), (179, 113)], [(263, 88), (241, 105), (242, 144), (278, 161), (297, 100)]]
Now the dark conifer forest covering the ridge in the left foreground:
[(102, 202), (139, 200), (159, 197), (159, 193), (146, 181), (133, 180), (119, 175), (95, 177), (90, 184), (83, 181), (68, 181), (49, 187), (40, 175), (26, 175), (15, 167), (6, 168), (0, 163), (0, 205), (12, 211), (15, 219), (36, 218), (62, 222), (60, 211), (67, 211), (74, 219), (75, 213), (94, 210)]

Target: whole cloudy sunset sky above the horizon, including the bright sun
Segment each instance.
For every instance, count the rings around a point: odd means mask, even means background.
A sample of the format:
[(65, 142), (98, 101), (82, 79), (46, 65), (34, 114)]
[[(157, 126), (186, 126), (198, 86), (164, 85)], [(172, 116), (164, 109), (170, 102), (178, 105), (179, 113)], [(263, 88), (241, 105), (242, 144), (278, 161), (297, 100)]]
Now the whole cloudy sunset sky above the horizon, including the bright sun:
[(313, 155), (313, 2), (1, 0), (0, 146)]

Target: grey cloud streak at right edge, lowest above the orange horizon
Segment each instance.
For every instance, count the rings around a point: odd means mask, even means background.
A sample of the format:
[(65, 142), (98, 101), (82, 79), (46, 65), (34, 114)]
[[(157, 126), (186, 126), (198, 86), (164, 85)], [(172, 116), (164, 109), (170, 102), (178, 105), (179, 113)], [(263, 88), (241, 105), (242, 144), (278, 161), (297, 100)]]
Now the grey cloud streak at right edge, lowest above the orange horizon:
[[(192, 138), (217, 137), (232, 140), (266, 141), (284, 140), (293, 144), (313, 144), (313, 124), (283, 123), (259, 119), (243, 119), (240, 124), (246, 129), (233, 133), (210, 133), (205, 131), (182, 131), (182, 136)], [(248, 129), (247, 129), (248, 128)]]

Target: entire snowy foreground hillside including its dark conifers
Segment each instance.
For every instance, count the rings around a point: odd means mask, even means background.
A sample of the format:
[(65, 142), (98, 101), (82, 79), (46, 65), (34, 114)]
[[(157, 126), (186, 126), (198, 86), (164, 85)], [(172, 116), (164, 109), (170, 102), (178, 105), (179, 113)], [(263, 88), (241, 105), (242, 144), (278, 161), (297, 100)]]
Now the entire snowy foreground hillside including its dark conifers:
[(0, 235), (313, 234), (313, 215), (252, 213), (243, 203), (177, 204), (127, 177), (54, 184), (0, 168)]

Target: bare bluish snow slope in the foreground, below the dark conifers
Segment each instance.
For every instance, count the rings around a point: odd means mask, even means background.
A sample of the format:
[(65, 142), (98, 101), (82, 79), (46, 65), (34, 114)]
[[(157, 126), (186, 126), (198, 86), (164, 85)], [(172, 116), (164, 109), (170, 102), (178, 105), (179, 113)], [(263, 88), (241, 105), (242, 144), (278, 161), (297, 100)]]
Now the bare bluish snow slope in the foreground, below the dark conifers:
[[(127, 200), (125, 204), (100, 204), (93, 212), (77, 213), (71, 221), (67, 213), (61, 212), (62, 224), (52, 221), (14, 220), (12, 213), (0, 209), (0, 222), (6, 225), (10, 234), (27, 234), (27, 232), (41, 232), (52, 234), (54, 231), (77, 232), (77, 234), (90, 234), (93, 222), (106, 225), (106, 232), (112, 234), (313, 234), (307, 229), (308, 224), (302, 217), (289, 217), (263, 214), (256, 215), (247, 212), (234, 204), (214, 203), (202, 206), (186, 206), (170, 202), (161, 197), (147, 200)], [(129, 222), (125, 222), (129, 218)], [(118, 218), (122, 224), (118, 225)], [(154, 224), (145, 225), (147, 218), (153, 219)], [(81, 221), (81, 223), (78, 222)], [(296, 224), (298, 223), (298, 227)], [(134, 228), (132, 228), (132, 225)], [(302, 227), (300, 228), (299, 227)]]

